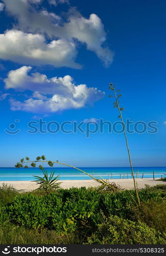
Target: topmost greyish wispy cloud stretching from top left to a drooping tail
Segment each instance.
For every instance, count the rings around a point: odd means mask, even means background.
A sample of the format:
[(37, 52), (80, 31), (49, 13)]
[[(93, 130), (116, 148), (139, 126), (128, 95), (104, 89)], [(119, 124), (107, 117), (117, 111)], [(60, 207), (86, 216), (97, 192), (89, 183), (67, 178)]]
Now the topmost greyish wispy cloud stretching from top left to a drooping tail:
[[(17, 27), (20, 30), (33, 34), (47, 34), (50, 39), (65, 39), (69, 44), (73, 42), (75, 46), (78, 40), (85, 44), (88, 50), (95, 52), (106, 66), (112, 62), (114, 54), (105, 46), (106, 32), (98, 15), (90, 14), (89, 18), (85, 18), (76, 8), (70, 8), (66, 13), (66, 21), (56, 13), (40, 8), (35, 9), (28, 0), (3, 0), (3, 2), (8, 13), (17, 18)], [(59, 0), (58, 2), (66, 1)], [(52, 3), (56, 5), (58, 2)]]

